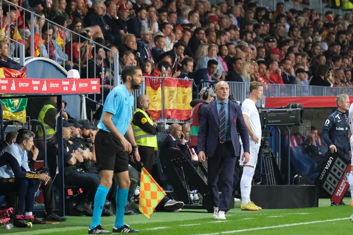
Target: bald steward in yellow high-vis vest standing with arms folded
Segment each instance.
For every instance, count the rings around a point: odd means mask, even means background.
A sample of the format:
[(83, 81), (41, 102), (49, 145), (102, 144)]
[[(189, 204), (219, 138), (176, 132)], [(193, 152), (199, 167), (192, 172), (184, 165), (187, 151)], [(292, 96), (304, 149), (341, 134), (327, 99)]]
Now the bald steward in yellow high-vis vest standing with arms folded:
[[(157, 132), (161, 131), (157, 123), (153, 121), (148, 109), (150, 99), (147, 95), (139, 95), (136, 98), (137, 109), (132, 116), (132, 130), (135, 137), (141, 162), (148, 172), (152, 172), (155, 151), (157, 150)], [(156, 113), (157, 114), (157, 113)], [(137, 166), (139, 167), (139, 166)], [(141, 169), (138, 169), (139, 171)]]

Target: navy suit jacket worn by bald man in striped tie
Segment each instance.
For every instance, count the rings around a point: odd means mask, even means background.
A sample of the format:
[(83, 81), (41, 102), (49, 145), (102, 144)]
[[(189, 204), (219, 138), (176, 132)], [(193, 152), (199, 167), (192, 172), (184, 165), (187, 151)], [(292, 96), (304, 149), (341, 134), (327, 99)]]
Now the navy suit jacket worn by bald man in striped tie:
[[(240, 105), (229, 100), (228, 124), (231, 127), (232, 143), (235, 156), (240, 156), (240, 142), (243, 141), (244, 152), (250, 153), (249, 132), (241, 112)], [(239, 132), (239, 134), (238, 134)], [(207, 157), (213, 157), (218, 142), (219, 117), (217, 111), (217, 101), (205, 105), (202, 113), (200, 129), (198, 131), (197, 150), (204, 151)]]

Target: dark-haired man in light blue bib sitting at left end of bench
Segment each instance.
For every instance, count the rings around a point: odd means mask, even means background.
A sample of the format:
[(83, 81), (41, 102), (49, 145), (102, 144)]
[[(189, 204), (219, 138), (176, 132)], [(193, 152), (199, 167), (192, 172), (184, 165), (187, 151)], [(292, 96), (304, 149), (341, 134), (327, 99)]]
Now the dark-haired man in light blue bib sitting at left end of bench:
[(28, 228), (32, 224), (43, 224), (32, 214), (34, 206), (35, 186), (37, 180), (47, 184), (50, 177), (46, 173), (36, 174), (30, 171), (28, 166), (27, 151), (31, 151), (36, 157), (38, 149), (34, 146), (34, 133), (29, 130), (21, 130), (16, 142), (3, 149), (0, 157), (0, 195), (17, 193), (17, 215), (13, 221), (15, 227)]

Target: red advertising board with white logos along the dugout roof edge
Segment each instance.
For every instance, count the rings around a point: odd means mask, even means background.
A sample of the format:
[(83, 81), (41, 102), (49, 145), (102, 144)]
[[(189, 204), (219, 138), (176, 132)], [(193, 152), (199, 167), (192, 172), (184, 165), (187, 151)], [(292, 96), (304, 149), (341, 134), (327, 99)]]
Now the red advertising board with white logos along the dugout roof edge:
[(100, 93), (99, 79), (0, 78), (0, 94)]

